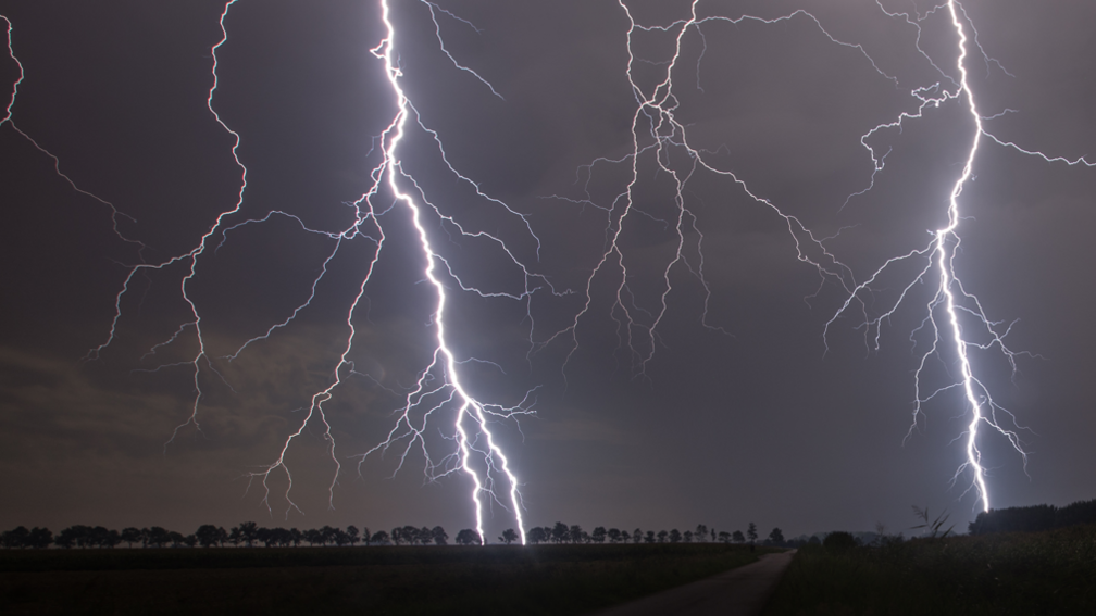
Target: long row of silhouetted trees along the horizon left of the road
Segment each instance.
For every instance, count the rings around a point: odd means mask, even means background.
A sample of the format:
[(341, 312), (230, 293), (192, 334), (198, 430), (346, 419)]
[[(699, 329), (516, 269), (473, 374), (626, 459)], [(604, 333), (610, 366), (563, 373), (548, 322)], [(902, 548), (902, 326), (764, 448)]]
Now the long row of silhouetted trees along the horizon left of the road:
[[(677, 544), (677, 543), (723, 543), (723, 544), (745, 544), (751, 545), (757, 541), (757, 526), (751, 522), (745, 534), (742, 531), (728, 533), (726, 531), (716, 532), (704, 524), (698, 524), (695, 529), (687, 529), (684, 533), (677, 528), (672, 531), (647, 531), (640, 528), (635, 531), (621, 531), (619, 528), (608, 528), (597, 526), (592, 532), (583, 531), (578, 524), (568, 525), (557, 522), (552, 526), (534, 526), (526, 532), (526, 541), (537, 544)], [(358, 528), (350, 525), (345, 528), (322, 526), (320, 528), (309, 528), (298, 531), (297, 528), (266, 528), (259, 526), (254, 522), (242, 522), (239, 525), (225, 529), (222, 526), (203, 524), (198, 529), (190, 535), (183, 535), (175, 531), (168, 531), (161, 526), (148, 528), (137, 528), (129, 526), (122, 531), (110, 529), (104, 526), (73, 525), (65, 528), (57, 535), (44, 527), (35, 526), (26, 528), (19, 526), (0, 535), (0, 545), (4, 548), (36, 548), (45, 549), (50, 546), (58, 548), (114, 548), (122, 544), (133, 548), (181, 548), (181, 547), (299, 547), (302, 544), (309, 546), (335, 546), (354, 547), (364, 546), (444, 546), (448, 545), (449, 535), (445, 528), (434, 526), (433, 528), (423, 526), (397, 526), (391, 531), (377, 531), (370, 533), (368, 527)], [(513, 528), (503, 531), (498, 537), (499, 543), (511, 545), (521, 540), (521, 536)], [(457, 545), (481, 545), (487, 544), (486, 538), (471, 528), (464, 528), (455, 537)], [(779, 528), (773, 528), (765, 545), (784, 546), (784, 534)]]

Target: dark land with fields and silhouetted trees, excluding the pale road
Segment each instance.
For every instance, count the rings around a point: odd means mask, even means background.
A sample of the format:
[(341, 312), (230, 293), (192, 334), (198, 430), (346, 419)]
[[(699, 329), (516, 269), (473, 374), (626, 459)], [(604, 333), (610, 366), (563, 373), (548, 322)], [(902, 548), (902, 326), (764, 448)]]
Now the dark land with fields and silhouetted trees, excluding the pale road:
[[(480, 546), (478, 536), (461, 541), (476, 545), (448, 546), (441, 527), (378, 531), (369, 543), (359, 541), (356, 527), (297, 532), (244, 523), (231, 532), (203, 526), (189, 537), (162, 528), (76, 527), (55, 539), (60, 549), (42, 549), (48, 531), (19, 528), (2, 536), (9, 549), (0, 550), (0, 608), (351, 614), (368, 605), (370, 613), (393, 615), (578, 615), (790, 547), (798, 551), (766, 616), (1096, 609), (1096, 500), (983, 513), (963, 536), (947, 514), (920, 513), (924, 523), (909, 539), (879, 533), (865, 543), (834, 532), (784, 541), (777, 528), (761, 546), (754, 545), (754, 525), (744, 545), (741, 532), (709, 534), (705, 526), (684, 534), (637, 528), (632, 536), (558, 523), (530, 529), (524, 547)], [(116, 547), (123, 537), (144, 547)], [(507, 539), (517, 537), (499, 537)], [(203, 547), (195, 548), (198, 543)], [(252, 547), (258, 544), (267, 547)], [(338, 547), (315, 547), (328, 544)]]

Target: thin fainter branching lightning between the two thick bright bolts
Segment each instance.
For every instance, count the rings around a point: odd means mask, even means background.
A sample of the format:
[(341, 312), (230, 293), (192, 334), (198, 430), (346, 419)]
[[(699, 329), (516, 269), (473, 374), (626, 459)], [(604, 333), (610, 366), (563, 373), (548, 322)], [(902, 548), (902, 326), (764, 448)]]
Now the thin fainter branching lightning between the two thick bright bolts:
[[(673, 290), (671, 277), (675, 270), (684, 267), (685, 272), (699, 282), (705, 289), (704, 315), (701, 318), (704, 327), (723, 334), (729, 334), (726, 329), (712, 326), (708, 322), (708, 306), (711, 298), (711, 288), (704, 274), (703, 248), (705, 238), (704, 233), (697, 226), (697, 216), (686, 205), (685, 194), (688, 183), (700, 172), (712, 173), (717, 176), (730, 180), (739, 191), (745, 194), (754, 203), (767, 208), (773, 214), (781, 218), (787, 226), (789, 235), (795, 241), (797, 259), (813, 266), (818, 271), (820, 284), (827, 280), (834, 280), (844, 288), (849, 289), (849, 283), (852, 280), (848, 269), (841, 264), (826, 249), (823, 243), (823, 239), (815, 237), (814, 233), (799, 220), (799, 218), (781, 212), (781, 209), (773, 203), (773, 201), (751, 190), (746, 182), (739, 178), (739, 175), (732, 170), (721, 169), (717, 164), (706, 160), (706, 155), (710, 155), (712, 152), (704, 151), (690, 145), (687, 127), (676, 116), (680, 102), (678, 96), (675, 93), (674, 83), (674, 71), (681, 66), (682, 43), (685, 36), (689, 32), (696, 32), (700, 39), (704, 41), (704, 26), (713, 23), (739, 25), (745, 22), (756, 22), (760, 24), (772, 25), (788, 22), (794, 19), (810, 20), (815, 24), (815, 26), (818, 26), (823, 35), (830, 39), (830, 42), (856, 49), (880, 76), (891, 81), (897, 80), (884, 73), (876, 65), (875, 60), (867, 55), (861, 46), (838, 41), (826, 32), (824, 27), (822, 27), (821, 22), (819, 22), (814, 15), (807, 11), (799, 10), (775, 19), (763, 19), (754, 15), (743, 15), (740, 18), (710, 15), (701, 18), (698, 16), (697, 13), (699, 0), (694, 0), (690, 4), (690, 14), (688, 19), (677, 20), (669, 25), (643, 25), (636, 22), (632, 16), (631, 9), (628, 8), (628, 4), (624, 0), (618, 0), (618, 4), (628, 20), (628, 65), (626, 73), (628, 84), (630, 85), (636, 100), (636, 111), (631, 118), (631, 152), (620, 159), (598, 158), (581, 168), (578, 180), (581, 181), (581, 174), (582, 172), (585, 172), (586, 182), (584, 183), (584, 186), (586, 190), (580, 197), (574, 198), (551, 195), (555, 198), (571, 203), (593, 205), (594, 207), (603, 210), (606, 214), (606, 240), (605, 248), (598, 262), (591, 270), (590, 276), (586, 278), (584, 305), (575, 313), (574, 319), (571, 321), (569, 327), (548, 336), (541, 345), (550, 344), (558, 339), (569, 338), (571, 347), (567, 360), (564, 361), (566, 369), (567, 362), (570, 361), (571, 355), (573, 355), (579, 346), (576, 331), (580, 321), (590, 311), (595, 280), (612, 276), (609, 270), (612, 270), (615, 265), (616, 269), (619, 270), (619, 277), (609, 284), (612, 284), (615, 288), (615, 303), (610, 309), (610, 313), (617, 323), (617, 339), (619, 346), (627, 349), (629, 352), (632, 370), (637, 374), (637, 376), (646, 376), (647, 365), (655, 354), (659, 340), (659, 324), (662, 322), (669, 309), (667, 298)], [(672, 34), (674, 36), (674, 52), (662, 62), (641, 59), (633, 47), (635, 36), (637, 33), (652, 32)], [(701, 89), (699, 85), (699, 65), (703, 59), (704, 53), (701, 53), (697, 59), (696, 71), (698, 89)], [(663, 76), (655, 82), (653, 88), (644, 89), (637, 82), (633, 70), (640, 62), (665, 66)], [(675, 158), (678, 161), (683, 160), (684, 162), (675, 163), (673, 162)], [(650, 161), (649, 163), (654, 166), (655, 172), (664, 173), (670, 178), (673, 191), (672, 199), (674, 213), (673, 218), (670, 220), (661, 219), (649, 212), (644, 212), (636, 204), (636, 191), (639, 182), (641, 181), (640, 167), (648, 163), (647, 161)], [(616, 195), (609, 205), (596, 203), (589, 191), (589, 184), (593, 176), (594, 168), (600, 164), (628, 164), (630, 167), (630, 179), (627, 182), (627, 185), (624, 187), (623, 192)], [(626, 264), (626, 253), (621, 248), (621, 236), (625, 232), (625, 226), (629, 218), (636, 216), (662, 223), (666, 229), (672, 227), (673, 239), (671, 241), (675, 244), (673, 254), (662, 267), (661, 281), (658, 283), (660, 285), (658, 300), (654, 306), (647, 308), (637, 305), (636, 293), (628, 284), (630, 274)], [(695, 236), (697, 238), (695, 247), (686, 247), (687, 233), (690, 237)], [(688, 250), (688, 248), (692, 248), (692, 250)]]

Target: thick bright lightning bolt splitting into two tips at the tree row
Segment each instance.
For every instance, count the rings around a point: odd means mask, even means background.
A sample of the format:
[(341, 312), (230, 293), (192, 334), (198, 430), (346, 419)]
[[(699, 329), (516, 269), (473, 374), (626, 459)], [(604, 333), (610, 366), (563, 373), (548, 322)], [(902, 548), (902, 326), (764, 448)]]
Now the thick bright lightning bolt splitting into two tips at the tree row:
[[(229, 2), (229, 4), (226, 5), (226, 13), (231, 3), (232, 2)], [(424, 2), (424, 4), (426, 4), (431, 11), (431, 16), (435, 25), (435, 33), (437, 34), (442, 53), (453, 61), (456, 68), (475, 76), (480, 82), (487, 84), (488, 88), (491, 89), (492, 93), (498, 95), (498, 92), (491, 88), (490, 83), (488, 83), (473, 70), (458, 64), (448, 50), (445, 49), (444, 41), (441, 36), (441, 26), (438, 25), (437, 14), (435, 12), (439, 11), (439, 9), (430, 2)], [(355, 238), (365, 238), (368, 241), (375, 242), (376, 252), (373, 260), (366, 264), (365, 274), (358, 285), (357, 294), (355, 295), (347, 311), (345, 322), (350, 333), (346, 338), (343, 352), (340, 355), (339, 364), (334, 369), (332, 381), (328, 387), (312, 396), (306, 417), (299, 424), (299, 427), (285, 440), (277, 458), (272, 464), (265, 466), (262, 470), (252, 472), (251, 477), (261, 480), (265, 489), (264, 502), (267, 502), (270, 497), (267, 480), (271, 478), (271, 474), (274, 471), (284, 472), (286, 479), (288, 480), (288, 488), (286, 489), (284, 497), (289, 503), (289, 507), (299, 512), (300, 509), (290, 498), (293, 477), (289, 468), (286, 466), (285, 457), (293, 442), (304, 433), (306, 426), (309, 425), (315, 418), (322, 424), (322, 437), (328, 443), (328, 453), (335, 465), (335, 471), (328, 489), (329, 506), (333, 506), (334, 487), (342, 470), (342, 465), (339, 463), (339, 458), (335, 455), (335, 440), (331, 433), (331, 424), (324, 414), (323, 404), (334, 396), (335, 389), (342, 384), (343, 373), (353, 372), (353, 362), (350, 360), (350, 354), (353, 351), (354, 336), (356, 333), (354, 326), (355, 313), (358, 306), (362, 304), (362, 299), (365, 297), (366, 288), (372, 278), (374, 267), (383, 254), (386, 241), (383, 217), (397, 216), (396, 212), (392, 210), (392, 206), (385, 203), (386, 198), (389, 199), (389, 202), (393, 199), (395, 203), (404, 206), (411, 215), (411, 220), (418, 232), (418, 241), (422, 251), (424, 262), (423, 274), (436, 293), (437, 304), (433, 310), (431, 319), (435, 332), (436, 349), (433, 353), (431, 363), (421, 370), (415, 387), (404, 397), (404, 404), (402, 409), (397, 412), (397, 421), (391, 431), (388, 433), (387, 438), (364, 454), (359, 454), (354, 457), (357, 458), (358, 468), (361, 469), (361, 465), (372, 454), (384, 453), (391, 447), (396, 447), (399, 450), (399, 465), (396, 469), (398, 472), (400, 468), (402, 468), (408, 455), (415, 449), (415, 447), (418, 447), (425, 459), (425, 467), (423, 470), (426, 480), (434, 481), (450, 475), (456, 470), (463, 470), (471, 478), (473, 488), (470, 498), (476, 515), (476, 529), (480, 537), (486, 536), (483, 533), (483, 506), (490, 503), (498, 503), (502, 505), (503, 509), (510, 511), (514, 516), (516, 525), (521, 532), (521, 536), (524, 540), (524, 522), (522, 517), (523, 505), (521, 502), (521, 494), (518, 492), (521, 482), (511, 470), (505, 453), (498, 443), (498, 438), (491, 432), (490, 423), (507, 419), (516, 420), (522, 414), (530, 413), (532, 392), (526, 395), (525, 399), (512, 407), (487, 403), (475, 398), (468, 392), (459, 376), (459, 364), (461, 361), (457, 358), (456, 353), (448, 343), (446, 331), (446, 301), (447, 294), (450, 292), (447, 290), (446, 286), (448, 281), (454, 281), (463, 290), (476, 293), (483, 297), (501, 296), (517, 300), (527, 300), (528, 296), (536, 289), (535, 286), (532, 286), (532, 280), (536, 276), (523, 266), (516, 258), (514, 258), (513, 253), (499, 238), (483, 232), (468, 232), (459, 225), (459, 223), (453, 219), (452, 216), (442, 214), (438, 206), (433, 205), (426, 199), (426, 196), (420, 189), (419, 183), (415, 182), (411, 173), (404, 169), (401, 162), (400, 145), (410, 128), (409, 121), (412, 121), (415, 126), (423, 129), (434, 139), (443, 160), (445, 160), (445, 151), (442, 147), (442, 141), (437, 136), (437, 133), (426, 128), (425, 125), (422, 124), (422, 121), (413, 107), (410, 99), (400, 87), (399, 80), (403, 76), (403, 72), (399, 66), (397, 56), (397, 27), (392, 22), (388, 2), (381, 2), (380, 9), (381, 20), (386, 28), (386, 36), (375, 48), (373, 48), (372, 53), (378, 60), (384, 62), (385, 75), (387, 77), (388, 85), (391, 88), (392, 100), (396, 107), (395, 116), (378, 139), (381, 146), (380, 151), (383, 153), (383, 160), (370, 172), (373, 182), (369, 189), (353, 204), (356, 212), (354, 224), (350, 228), (339, 232), (326, 232), (331, 239), (335, 240), (335, 243), (333, 250), (324, 261), (323, 269), (319, 277), (312, 282), (312, 293), (309, 295), (309, 298), (302, 305), (298, 306), (286, 321), (273, 326), (266, 331), (265, 334), (248, 341), (243, 346), (231, 354), (230, 357), (236, 357), (251, 342), (265, 339), (273, 333), (276, 328), (288, 324), (288, 322), (292, 321), (297, 313), (309, 305), (311, 298), (315, 296), (316, 285), (327, 273), (327, 264), (335, 256), (340, 247), (343, 246), (344, 242), (349, 242)], [(449, 14), (448, 12), (445, 13)], [(458, 21), (464, 20), (458, 19)], [(224, 24), (224, 15), (221, 16), (221, 24)], [(222, 39), (221, 44), (224, 44), (224, 42), (225, 41)], [(448, 169), (461, 181), (472, 184), (476, 187), (477, 194), (481, 197), (494, 203), (495, 205), (502, 206), (509, 214), (521, 217), (520, 214), (505, 206), (502, 202), (493, 199), (480, 192), (478, 185), (475, 185), (475, 183), (470, 180), (459, 174), (447, 160), (445, 160), (445, 163)], [(404, 187), (404, 185), (409, 185), (412, 190), (409, 191)], [(383, 205), (378, 206), (376, 205), (377, 203), (381, 203)], [(427, 213), (436, 216), (435, 224), (448, 224), (464, 237), (484, 239), (501, 248), (510, 258), (512, 263), (520, 267), (523, 272), (526, 281), (524, 290), (518, 294), (491, 293), (469, 287), (461, 283), (459, 276), (454, 273), (449, 262), (432, 246), (426, 227), (423, 223), (423, 218), (427, 215)], [(269, 218), (269, 216), (270, 215), (263, 219), (247, 220), (235, 225), (227, 230), (231, 230), (242, 225), (262, 223)], [(299, 223), (299, 219), (297, 221)], [(529, 230), (529, 235), (532, 236), (532, 229), (528, 226), (528, 221), (524, 220), (524, 223), (526, 229)], [(301, 226), (304, 227), (304, 224), (301, 224)], [(366, 226), (368, 226), (368, 229), (365, 228)], [(308, 229), (307, 227), (305, 227), (305, 230), (308, 232), (323, 232)], [(533, 238), (535, 240), (535, 236), (533, 236)], [(442, 265), (442, 267), (439, 269), (438, 265)], [(438, 458), (427, 448), (425, 433), (429, 425), (434, 424), (435, 421), (444, 421), (444, 417), (446, 415), (450, 418), (452, 422), (450, 440), (454, 442), (454, 449)], [(477, 468), (477, 466), (479, 468)], [(501, 489), (504, 490), (505, 497), (501, 497), (499, 492), (500, 484), (503, 486)], [(505, 503), (503, 500), (500, 500), (500, 498), (503, 499)], [(288, 511), (286, 513), (288, 514)]]

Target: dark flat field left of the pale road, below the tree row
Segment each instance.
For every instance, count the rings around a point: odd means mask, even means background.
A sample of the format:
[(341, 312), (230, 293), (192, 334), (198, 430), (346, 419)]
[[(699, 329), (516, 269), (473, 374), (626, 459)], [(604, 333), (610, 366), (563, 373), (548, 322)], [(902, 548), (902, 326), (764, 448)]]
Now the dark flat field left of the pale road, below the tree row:
[(764, 551), (721, 544), (0, 550), (0, 614), (583, 614)]

